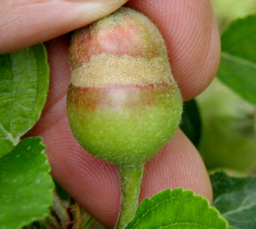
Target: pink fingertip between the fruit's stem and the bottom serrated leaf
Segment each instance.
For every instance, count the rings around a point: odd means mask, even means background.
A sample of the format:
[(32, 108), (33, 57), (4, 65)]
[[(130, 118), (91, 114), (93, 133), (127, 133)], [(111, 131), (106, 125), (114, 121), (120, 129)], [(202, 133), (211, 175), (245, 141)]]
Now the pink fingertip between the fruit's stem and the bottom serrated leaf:
[(145, 166), (141, 200), (168, 188), (192, 189), (212, 202), (211, 181), (204, 162), (180, 130)]

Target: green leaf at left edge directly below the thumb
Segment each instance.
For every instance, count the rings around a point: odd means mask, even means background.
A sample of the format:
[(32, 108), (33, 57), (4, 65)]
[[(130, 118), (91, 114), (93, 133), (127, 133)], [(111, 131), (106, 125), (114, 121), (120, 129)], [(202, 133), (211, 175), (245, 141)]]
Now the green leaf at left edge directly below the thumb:
[(39, 119), (48, 88), (44, 45), (0, 55), (0, 156)]

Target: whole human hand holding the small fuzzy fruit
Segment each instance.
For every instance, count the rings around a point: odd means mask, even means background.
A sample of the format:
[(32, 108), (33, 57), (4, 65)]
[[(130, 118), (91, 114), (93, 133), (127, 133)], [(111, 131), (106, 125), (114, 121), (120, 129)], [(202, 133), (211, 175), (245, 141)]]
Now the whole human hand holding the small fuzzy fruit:
[[(0, 11), (3, 11), (4, 20), (0, 24), (4, 33), (0, 33), (0, 52), (11, 52), (68, 33), (111, 13), (124, 2), (108, 1), (104, 7), (78, 0), (2, 1), (0, 5), (4, 7)], [(173, 76), (184, 100), (200, 94), (216, 74), (220, 59), (220, 40), (210, 1), (131, 0), (127, 6), (145, 13), (163, 34)], [(54, 178), (92, 216), (113, 227), (120, 201), (116, 168), (85, 152), (68, 126), (69, 35), (45, 45), (51, 66), (50, 91), (42, 117), (30, 134), (44, 138)], [(141, 200), (163, 189), (177, 187), (193, 189), (195, 193), (212, 199), (204, 163), (180, 130), (147, 163)]]

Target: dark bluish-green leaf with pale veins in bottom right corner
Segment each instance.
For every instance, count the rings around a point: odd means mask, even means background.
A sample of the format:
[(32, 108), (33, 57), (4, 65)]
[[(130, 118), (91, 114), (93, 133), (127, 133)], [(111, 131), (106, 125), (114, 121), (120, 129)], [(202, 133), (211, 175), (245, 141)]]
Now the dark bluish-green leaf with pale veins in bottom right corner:
[(229, 177), (220, 171), (211, 174), (211, 181), (213, 205), (230, 226), (236, 229), (255, 229), (256, 177)]

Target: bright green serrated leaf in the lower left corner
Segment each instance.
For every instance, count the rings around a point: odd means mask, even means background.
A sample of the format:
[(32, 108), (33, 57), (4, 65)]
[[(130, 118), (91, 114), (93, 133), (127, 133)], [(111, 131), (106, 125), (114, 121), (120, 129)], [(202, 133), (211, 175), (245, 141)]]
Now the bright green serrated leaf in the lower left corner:
[(41, 138), (25, 138), (0, 158), (0, 229), (19, 229), (49, 214), (50, 166)]

